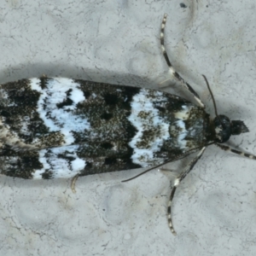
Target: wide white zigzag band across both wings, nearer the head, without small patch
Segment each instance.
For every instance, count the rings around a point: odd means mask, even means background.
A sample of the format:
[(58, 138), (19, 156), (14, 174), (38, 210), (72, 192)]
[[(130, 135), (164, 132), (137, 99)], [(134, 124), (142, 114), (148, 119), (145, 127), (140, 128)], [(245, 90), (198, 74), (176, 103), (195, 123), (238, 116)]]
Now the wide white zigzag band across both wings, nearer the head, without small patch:
[[(138, 130), (136, 136), (129, 143), (134, 150), (131, 159), (133, 163), (143, 167), (152, 166), (152, 164), (162, 161), (162, 159), (158, 160), (155, 158), (154, 153), (160, 151), (160, 147), (164, 141), (170, 137), (169, 124), (160, 117), (159, 110), (154, 108), (152, 103), (155, 98), (160, 101), (167, 101), (166, 97), (160, 91), (140, 90), (132, 98), (131, 115), (128, 118), (131, 124)], [(154, 139), (150, 140), (148, 148), (138, 147), (139, 143), (143, 140), (143, 132), (151, 129), (157, 129), (159, 133), (155, 135)]]

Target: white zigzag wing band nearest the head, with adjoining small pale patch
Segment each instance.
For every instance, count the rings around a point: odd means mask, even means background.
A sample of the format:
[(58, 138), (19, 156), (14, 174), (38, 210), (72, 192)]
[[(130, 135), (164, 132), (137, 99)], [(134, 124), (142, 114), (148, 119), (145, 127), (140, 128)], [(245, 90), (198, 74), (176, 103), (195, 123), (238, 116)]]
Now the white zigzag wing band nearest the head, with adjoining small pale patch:
[[(152, 102), (155, 98), (160, 102), (168, 101), (163, 93), (160, 91), (141, 90), (139, 94), (133, 96), (131, 102), (131, 115), (129, 120), (132, 125), (137, 128), (137, 134), (132, 138), (129, 145), (134, 149), (134, 154), (131, 156), (133, 163), (139, 164), (143, 167), (152, 166), (152, 164), (157, 165), (161, 163), (162, 159), (157, 159), (154, 156), (155, 152), (160, 151), (160, 147), (163, 145), (164, 141), (170, 138), (169, 126), (171, 125), (171, 130), (175, 129), (179, 131), (177, 137), (177, 143), (179, 148), (184, 149), (187, 146), (187, 142), (184, 139), (188, 131), (186, 130), (184, 120), (189, 119), (190, 109), (187, 106), (183, 106), (182, 110), (175, 113), (175, 118), (177, 121), (175, 124), (168, 124), (159, 115), (159, 110), (154, 108)], [(143, 118), (146, 116), (147, 118)], [(140, 148), (137, 145), (143, 139), (143, 132), (150, 129), (158, 129), (157, 134), (154, 139), (150, 141), (148, 148)]]

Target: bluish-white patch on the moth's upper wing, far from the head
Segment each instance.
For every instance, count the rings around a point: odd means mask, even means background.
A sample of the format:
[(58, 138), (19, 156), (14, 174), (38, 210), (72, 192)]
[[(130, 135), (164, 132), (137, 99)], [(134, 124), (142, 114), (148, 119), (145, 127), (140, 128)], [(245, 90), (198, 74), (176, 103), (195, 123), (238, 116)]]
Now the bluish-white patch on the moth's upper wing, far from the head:
[[(32, 90), (38, 90), (41, 96), (38, 100), (38, 113), (44, 120), (44, 125), (49, 127), (49, 131), (61, 131), (65, 138), (65, 144), (70, 145), (74, 142), (71, 131), (83, 132), (90, 129), (90, 123), (83, 116), (73, 113), (76, 105), (85, 100), (84, 94), (79, 90), (80, 84), (73, 79), (50, 79), (47, 89), (42, 89), (40, 79), (31, 79)], [(67, 90), (71, 90), (69, 98), (73, 101), (72, 105), (58, 108), (57, 104), (67, 99)]]

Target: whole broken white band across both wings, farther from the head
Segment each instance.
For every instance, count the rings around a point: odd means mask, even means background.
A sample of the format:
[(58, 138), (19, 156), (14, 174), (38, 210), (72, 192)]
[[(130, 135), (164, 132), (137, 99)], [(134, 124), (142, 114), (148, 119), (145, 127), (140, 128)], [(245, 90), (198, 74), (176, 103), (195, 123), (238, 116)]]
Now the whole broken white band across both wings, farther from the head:
[[(86, 117), (83, 116), (81, 118), (81, 115), (76, 115), (73, 112), (77, 104), (85, 100), (82, 90), (79, 89), (80, 84), (75, 83), (73, 79), (62, 78), (48, 80), (47, 88), (45, 89), (42, 89), (39, 84), (40, 79), (31, 79), (32, 90), (37, 90), (41, 93), (38, 100), (40, 118), (49, 127), (49, 131), (60, 131), (64, 135), (66, 145), (72, 144), (74, 137), (71, 131), (84, 132), (84, 130), (90, 129), (90, 123)], [(57, 104), (67, 99), (67, 90), (70, 90), (68, 97), (73, 101), (73, 104), (58, 108)], [(79, 159), (75, 153), (77, 147), (73, 145), (51, 148), (50, 154), (47, 149), (40, 150), (39, 160), (44, 167), (34, 172), (33, 178), (42, 178), (41, 174), (46, 170), (53, 172), (53, 177), (74, 177), (86, 166), (85, 161)], [(59, 158), (58, 154), (71, 156), (74, 160), (70, 162), (65, 158)]]

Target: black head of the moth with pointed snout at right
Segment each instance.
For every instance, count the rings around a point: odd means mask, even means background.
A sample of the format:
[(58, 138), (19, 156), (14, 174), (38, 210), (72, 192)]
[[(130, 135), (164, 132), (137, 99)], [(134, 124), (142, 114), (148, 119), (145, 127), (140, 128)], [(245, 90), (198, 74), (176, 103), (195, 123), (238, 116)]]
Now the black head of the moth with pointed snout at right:
[(249, 131), (247, 126), (242, 121), (230, 121), (230, 119), (223, 114), (215, 117), (213, 124), (215, 129), (216, 143), (225, 143), (230, 139), (231, 135), (239, 135)]

